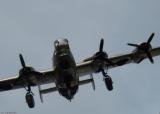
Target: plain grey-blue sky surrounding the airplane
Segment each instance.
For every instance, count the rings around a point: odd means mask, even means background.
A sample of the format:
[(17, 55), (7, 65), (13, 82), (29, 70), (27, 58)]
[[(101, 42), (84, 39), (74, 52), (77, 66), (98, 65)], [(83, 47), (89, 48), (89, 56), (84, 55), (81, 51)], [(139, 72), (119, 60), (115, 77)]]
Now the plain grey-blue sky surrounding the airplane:
[[(67, 38), (77, 62), (98, 50), (105, 39), (110, 56), (133, 50), (128, 42), (146, 41), (160, 46), (159, 0), (3, 0), (0, 1), (0, 78), (18, 74), (18, 54), (37, 70), (50, 69), (53, 42)], [(36, 107), (28, 109), (25, 90), (0, 93), (0, 113), (17, 114), (159, 114), (159, 57), (109, 71), (114, 90), (108, 92), (101, 74), (94, 74), (96, 91), (91, 84), (80, 87), (70, 103), (58, 93), (44, 95), (40, 103), (34, 88)]]

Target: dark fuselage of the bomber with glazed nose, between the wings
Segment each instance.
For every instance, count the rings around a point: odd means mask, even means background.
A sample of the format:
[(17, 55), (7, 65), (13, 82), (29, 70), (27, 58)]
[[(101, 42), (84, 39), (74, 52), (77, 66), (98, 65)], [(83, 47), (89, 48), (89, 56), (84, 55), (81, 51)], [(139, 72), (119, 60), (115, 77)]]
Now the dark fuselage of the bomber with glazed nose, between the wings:
[(70, 51), (68, 40), (56, 40), (53, 55), (53, 67), (57, 72), (56, 87), (59, 93), (71, 100), (78, 90), (79, 76), (76, 71), (76, 62)]

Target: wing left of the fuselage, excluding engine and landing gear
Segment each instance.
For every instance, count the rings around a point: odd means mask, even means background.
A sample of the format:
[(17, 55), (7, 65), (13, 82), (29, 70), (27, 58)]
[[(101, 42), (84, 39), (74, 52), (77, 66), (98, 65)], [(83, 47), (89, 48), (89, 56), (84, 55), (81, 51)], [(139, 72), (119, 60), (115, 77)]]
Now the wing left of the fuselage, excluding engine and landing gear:
[(8, 79), (2, 79), (0, 80), (0, 91), (25, 88), (28, 83), (32, 86), (36, 86), (41, 84), (52, 83), (55, 81), (56, 75), (54, 70), (42, 71), (41, 73), (43, 75), (33, 75), (29, 76), (30, 78), (28, 78), (27, 76), (16, 76)]

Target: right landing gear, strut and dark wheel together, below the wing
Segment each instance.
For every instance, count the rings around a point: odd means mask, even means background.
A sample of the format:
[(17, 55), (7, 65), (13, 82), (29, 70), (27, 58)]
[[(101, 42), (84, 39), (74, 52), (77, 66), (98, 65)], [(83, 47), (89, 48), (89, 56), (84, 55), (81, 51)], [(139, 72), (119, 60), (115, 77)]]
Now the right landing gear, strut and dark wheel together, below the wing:
[(104, 82), (105, 82), (106, 88), (109, 91), (112, 91), (113, 90), (112, 78), (109, 75), (107, 75), (107, 72), (105, 72), (104, 70), (102, 70), (102, 74), (103, 74), (103, 77), (104, 77)]

